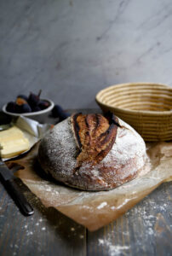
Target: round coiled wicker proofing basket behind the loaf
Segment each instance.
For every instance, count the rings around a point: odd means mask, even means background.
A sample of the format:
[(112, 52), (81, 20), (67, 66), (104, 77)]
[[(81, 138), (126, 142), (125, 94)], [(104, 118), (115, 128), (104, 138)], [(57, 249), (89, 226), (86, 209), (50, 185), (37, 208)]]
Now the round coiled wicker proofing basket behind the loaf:
[(172, 88), (135, 83), (107, 87), (95, 97), (103, 112), (112, 111), (147, 142), (172, 140)]

